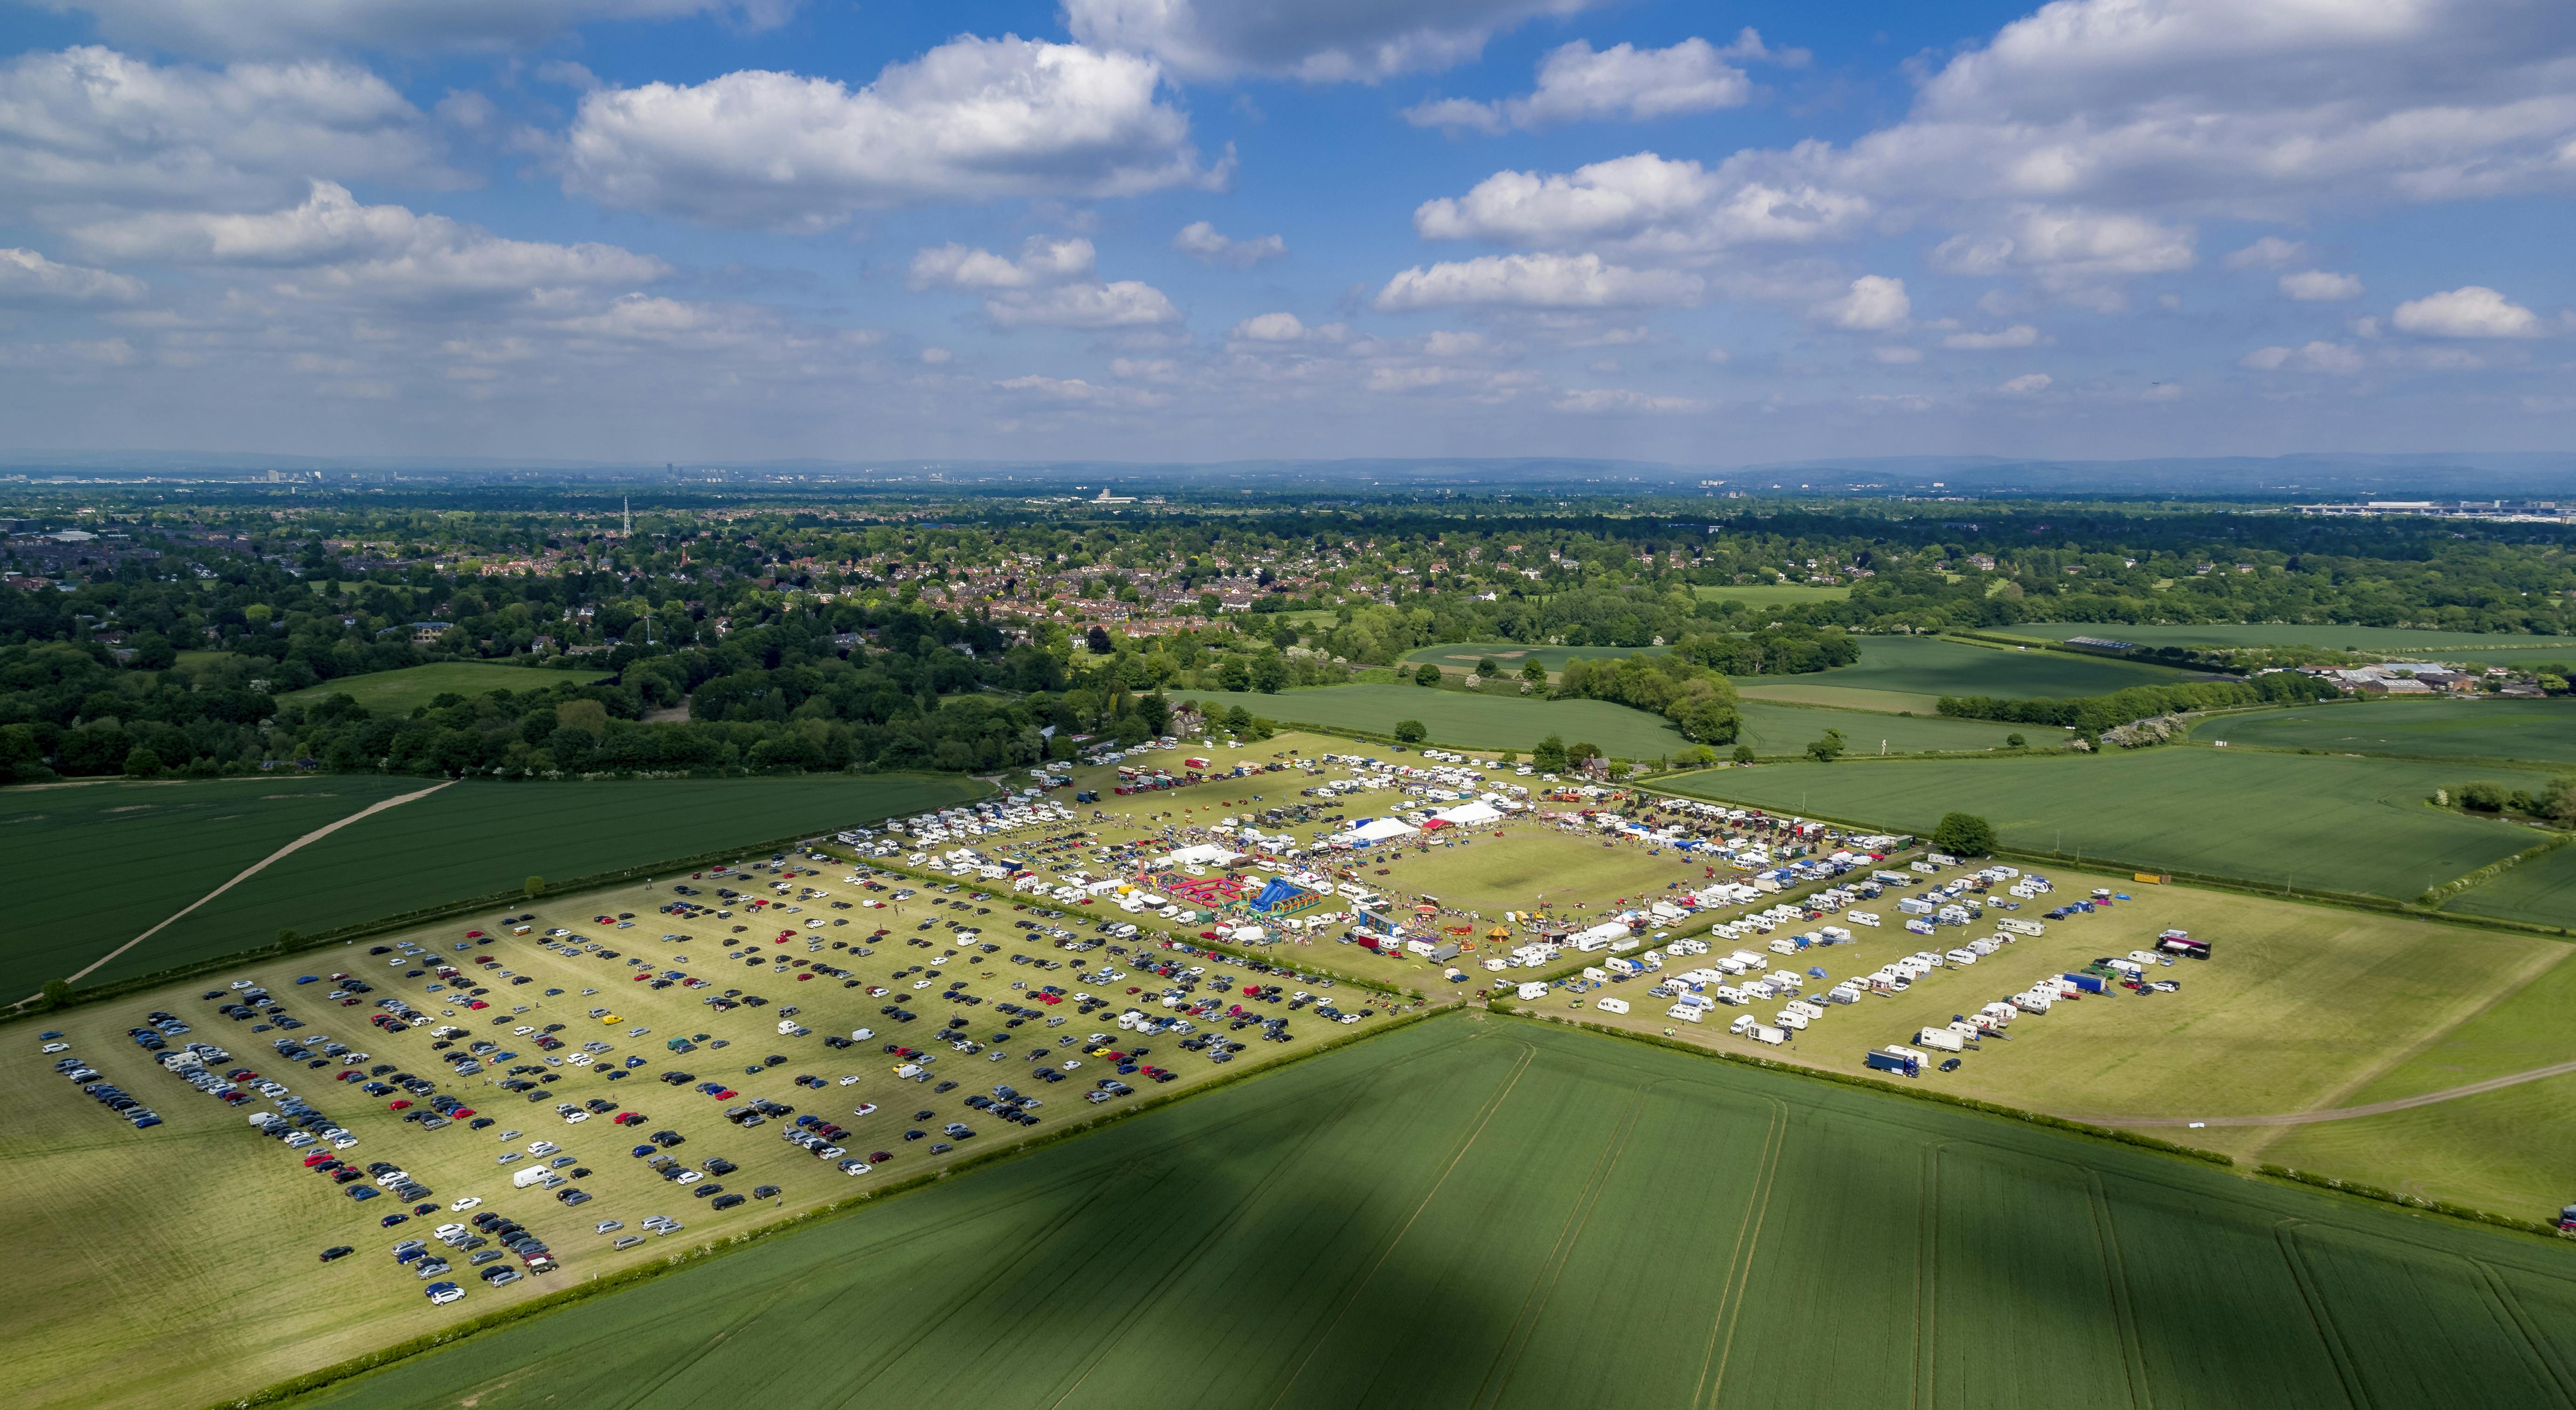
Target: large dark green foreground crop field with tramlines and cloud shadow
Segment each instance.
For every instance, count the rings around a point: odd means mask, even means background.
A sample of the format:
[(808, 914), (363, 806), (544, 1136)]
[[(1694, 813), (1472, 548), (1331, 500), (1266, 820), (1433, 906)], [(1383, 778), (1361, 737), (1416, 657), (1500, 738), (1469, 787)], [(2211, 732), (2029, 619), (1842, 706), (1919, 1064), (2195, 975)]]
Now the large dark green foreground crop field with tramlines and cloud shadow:
[(304, 1405), (2530, 1407), (2566, 1309), (2535, 1240), (1458, 1016)]

